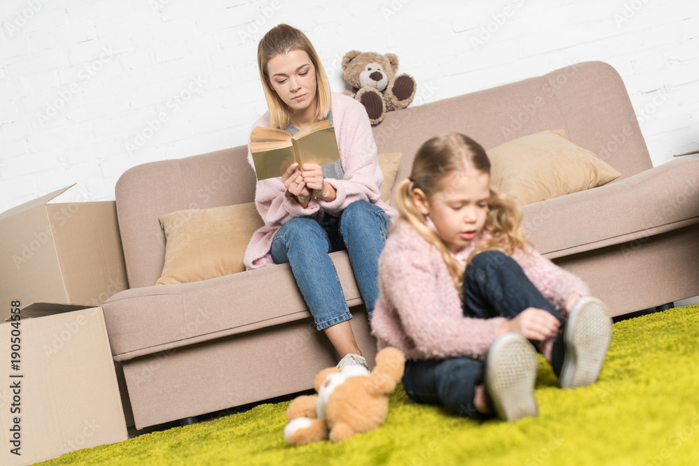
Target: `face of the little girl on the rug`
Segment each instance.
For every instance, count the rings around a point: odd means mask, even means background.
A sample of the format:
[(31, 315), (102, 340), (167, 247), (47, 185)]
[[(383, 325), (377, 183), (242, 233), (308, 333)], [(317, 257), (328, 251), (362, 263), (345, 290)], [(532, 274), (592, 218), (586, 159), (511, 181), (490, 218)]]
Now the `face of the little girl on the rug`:
[(490, 175), (471, 168), (442, 179), (440, 189), (426, 198), (414, 189), (413, 201), (421, 214), (428, 215), (452, 252), (466, 247), (485, 225), (490, 198)]

